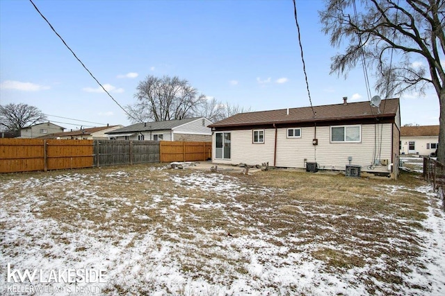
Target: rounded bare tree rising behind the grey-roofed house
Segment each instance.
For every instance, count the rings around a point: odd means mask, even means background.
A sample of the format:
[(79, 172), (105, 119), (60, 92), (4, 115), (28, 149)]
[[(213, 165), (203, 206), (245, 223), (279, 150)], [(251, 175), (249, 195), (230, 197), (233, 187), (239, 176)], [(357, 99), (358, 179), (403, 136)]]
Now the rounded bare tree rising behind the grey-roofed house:
[[(127, 110), (140, 122), (193, 117), (205, 98), (187, 80), (177, 76), (147, 76), (136, 89), (134, 96), (138, 101), (127, 106)], [(129, 116), (128, 119), (134, 121)]]

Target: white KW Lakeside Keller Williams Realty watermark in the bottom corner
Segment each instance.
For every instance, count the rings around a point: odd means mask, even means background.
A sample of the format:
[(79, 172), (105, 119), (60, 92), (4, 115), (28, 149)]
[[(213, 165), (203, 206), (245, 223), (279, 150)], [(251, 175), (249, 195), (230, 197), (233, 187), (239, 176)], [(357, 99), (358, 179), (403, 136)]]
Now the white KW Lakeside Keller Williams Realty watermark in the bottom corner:
[[(100, 285), (106, 283), (103, 269), (13, 269), (7, 265), (7, 293), (101, 293)], [(74, 285), (72, 285), (74, 284)]]

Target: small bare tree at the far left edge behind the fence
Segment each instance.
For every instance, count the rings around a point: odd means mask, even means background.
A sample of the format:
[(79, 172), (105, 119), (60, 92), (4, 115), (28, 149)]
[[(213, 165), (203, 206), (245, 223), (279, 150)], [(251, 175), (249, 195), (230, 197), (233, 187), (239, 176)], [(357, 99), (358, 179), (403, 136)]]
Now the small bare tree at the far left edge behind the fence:
[(47, 120), (38, 107), (24, 103), (0, 105), (0, 129), (18, 134), (22, 128)]

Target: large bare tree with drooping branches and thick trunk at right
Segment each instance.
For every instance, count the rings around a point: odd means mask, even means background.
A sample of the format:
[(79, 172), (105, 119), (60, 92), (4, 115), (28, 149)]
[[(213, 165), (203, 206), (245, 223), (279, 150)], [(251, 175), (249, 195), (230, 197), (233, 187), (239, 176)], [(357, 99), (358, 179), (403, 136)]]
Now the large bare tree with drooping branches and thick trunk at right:
[(325, 0), (319, 12), (332, 46), (348, 44), (332, 58), (331, 73), (364, 63), (375, 69), (375, 89), (388, 98), (433, 87), (439, 98), (438, 159), (445, 161), (444, 0)]

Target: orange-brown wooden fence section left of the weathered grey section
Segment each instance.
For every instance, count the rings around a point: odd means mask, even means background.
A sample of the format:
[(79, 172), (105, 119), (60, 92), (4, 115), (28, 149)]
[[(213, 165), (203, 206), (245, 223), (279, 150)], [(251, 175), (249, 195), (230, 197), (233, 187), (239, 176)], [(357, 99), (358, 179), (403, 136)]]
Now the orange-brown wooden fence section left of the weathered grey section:
[(92, 140), (0, 139), (0, 173), (92, 166)]

